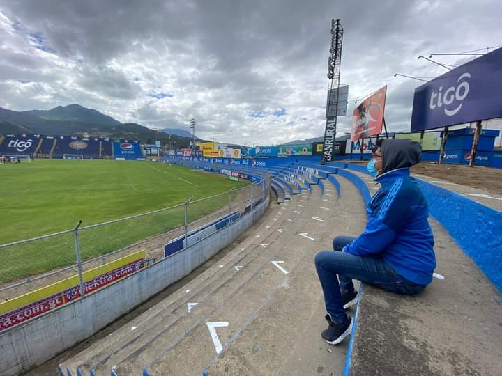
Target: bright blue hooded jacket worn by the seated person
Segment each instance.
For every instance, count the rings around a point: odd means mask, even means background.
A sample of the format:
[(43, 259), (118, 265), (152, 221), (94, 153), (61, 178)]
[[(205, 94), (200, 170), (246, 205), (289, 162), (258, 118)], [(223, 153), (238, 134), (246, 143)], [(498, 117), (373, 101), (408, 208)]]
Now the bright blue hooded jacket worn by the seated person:
[[(409, 140), (386, 140), (382, 146), (389, 141)], [(402, 147), (404, 143), (393, 146)], [(410, 176), (409, 167), (392, 169), (406, 163), (390, 162), (388, 158), (393, 154), (392, 150), (388, 150), (387, 157), (385, 148), (381, 150), (383, 171), (390, 171), (377, 177), (381, 189), (367, 205), (366, 228), (356, 240), (345, 246), (344, 252), (356, 256), (379, 256), (405, 279), (428, 285), (436, 268), (436, 256), (434, 236), (427, 221), (427, 201), (416, 180)], [(402, 158), (403, 153), (396, 157)]]

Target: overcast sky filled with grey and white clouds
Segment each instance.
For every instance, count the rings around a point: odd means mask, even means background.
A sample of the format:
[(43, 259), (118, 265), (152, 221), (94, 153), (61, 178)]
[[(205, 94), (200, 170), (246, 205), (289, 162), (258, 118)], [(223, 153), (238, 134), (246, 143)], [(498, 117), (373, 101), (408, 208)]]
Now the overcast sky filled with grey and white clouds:
[[(197, 136), (220, 142), (320, 136), (330, 20), (340, 18), (349, 98), (387, 84), (388, 126), (409, 130), (420, 82), (393, 75), (445, 72), (420, 54), (502, 45), (500, 9), (499, 0), (0, 0), (0, 107), (78, 103), (186, 130), (194, 117)], [(338, 134), (350, 123), (339, 118)]]

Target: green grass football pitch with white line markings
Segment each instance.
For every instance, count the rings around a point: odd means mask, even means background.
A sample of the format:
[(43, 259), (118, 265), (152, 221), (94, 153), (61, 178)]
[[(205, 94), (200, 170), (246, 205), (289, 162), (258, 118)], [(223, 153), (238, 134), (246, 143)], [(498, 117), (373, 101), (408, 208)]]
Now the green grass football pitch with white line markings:
[[(0, 244), (128, 217), (242, 187), (212, 173), (146, 161), (36, 160), (0, 165)], [(189, 206), (189, 220), (217, 210), (227, 195)], [(84, 259), (183, 224), (183, 207), (82, 231)], [(71, 265), (73, 235), (0, 249), (0, 282)], [(86, 239), (87, 237), (87, 239)], [(40, 254), (43, 257), (40, 257)], [(35, 256), (38, 255), (38, 256)]]

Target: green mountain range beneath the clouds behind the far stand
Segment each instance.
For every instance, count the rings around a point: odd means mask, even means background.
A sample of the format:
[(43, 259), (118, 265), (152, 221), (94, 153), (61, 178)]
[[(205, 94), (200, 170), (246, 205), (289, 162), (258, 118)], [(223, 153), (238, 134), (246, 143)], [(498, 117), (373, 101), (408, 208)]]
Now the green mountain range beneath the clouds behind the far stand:
[[(164, 132), (167, 130), (168, 132)], [(11, 111), (0, 107), (0, 134), (34, 133), (58, 136), (106, 136), (113, 139), (136, 139), (146, 143), (160, 140), (173, 148), (190, 146), (190, 132), (166, 128), (162, 132), (137, 123), (121, 123), (95, 109), (79, 104), (50, 110)]]

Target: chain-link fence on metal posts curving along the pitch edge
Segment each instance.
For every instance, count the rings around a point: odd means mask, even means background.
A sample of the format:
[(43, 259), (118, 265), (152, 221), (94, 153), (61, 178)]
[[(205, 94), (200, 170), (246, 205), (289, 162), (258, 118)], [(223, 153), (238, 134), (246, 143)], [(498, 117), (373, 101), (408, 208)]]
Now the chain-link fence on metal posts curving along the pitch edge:
[[(204, 163), (199, 167), (207, 168)], [(89, 280), (86, 272), (95, 275), (96, 268), (139, 250), (145, 250), (143, 263), (154, 263), (169, 240), (236, 212), (244, 214), (268, 194), (270, 179), (264, 171), (232, 171), (249, 176), (252, 172), (254, 182), (152, 212), (91, 226), (79, 222), (60, 233), (0, 245), (0, 303), (64, 279), (75, 282), (75, 276), (77, 290), (82, 291)]]

